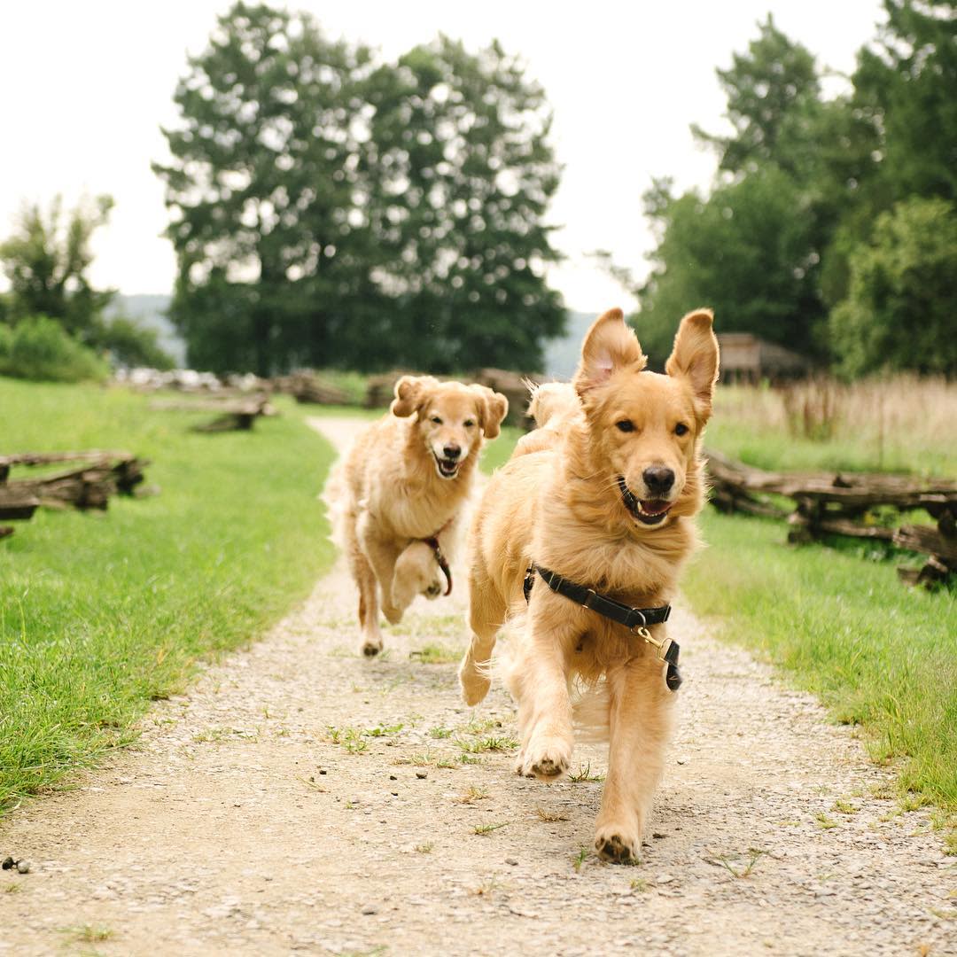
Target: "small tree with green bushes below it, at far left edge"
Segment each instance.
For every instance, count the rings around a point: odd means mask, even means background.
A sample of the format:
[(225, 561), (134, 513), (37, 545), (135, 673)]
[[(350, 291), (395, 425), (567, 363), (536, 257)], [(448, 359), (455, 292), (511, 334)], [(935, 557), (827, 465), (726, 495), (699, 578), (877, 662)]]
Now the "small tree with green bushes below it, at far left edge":
[(0, 241), (10, 283), (0, 296), (0, 375), (81, 380), (103, 378), (116, 366), (172, 366), (154, 331), (107, 316), (116, 290), (90, 283), (91, 238), (112, 208), (109, 196), (68, 212), (58, 197), (46, 209), (27, 204)]

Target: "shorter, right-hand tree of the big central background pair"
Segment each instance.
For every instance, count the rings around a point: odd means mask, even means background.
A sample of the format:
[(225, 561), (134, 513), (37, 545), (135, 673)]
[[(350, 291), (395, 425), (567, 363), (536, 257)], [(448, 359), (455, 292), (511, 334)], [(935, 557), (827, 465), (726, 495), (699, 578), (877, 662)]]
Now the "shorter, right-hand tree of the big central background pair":
[[(369, 84), (375, 278), (414, 361), (439, 371), (537, 368), (564, 309), (545, 283), (560, 169), (545, 93), (498, 43), (440, 36)], [(410, 356), (410, 361), (413, 361)]]

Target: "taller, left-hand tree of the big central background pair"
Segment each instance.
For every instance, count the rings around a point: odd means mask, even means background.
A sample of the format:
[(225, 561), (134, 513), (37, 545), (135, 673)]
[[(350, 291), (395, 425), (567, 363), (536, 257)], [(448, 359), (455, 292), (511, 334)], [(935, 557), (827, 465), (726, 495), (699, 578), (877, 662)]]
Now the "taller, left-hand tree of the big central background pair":
[(365, 50), (311, 17), (238, 3), (189, 60), (165, 130), (171, 316), (190, 361), (269, 373), (332, 355), (367, 295), (358, 210)]

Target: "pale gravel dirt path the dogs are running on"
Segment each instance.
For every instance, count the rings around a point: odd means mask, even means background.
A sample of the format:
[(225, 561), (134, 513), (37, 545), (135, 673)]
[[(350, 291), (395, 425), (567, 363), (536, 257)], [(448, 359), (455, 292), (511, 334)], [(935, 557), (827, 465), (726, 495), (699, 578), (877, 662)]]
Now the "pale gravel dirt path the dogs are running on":
[(516, 777), (479, 750), (513, 733), (501, 688), (472, 712), (454, 663), (411, 657), (462, 646), (461, 586), (368, 661), (336, 568), (138, 746), (11, 814), (0, 851), (33, 870), (0, 877), (0, 953), (957, 953), (954, 858), (924, 812), (889, 816), (852, 731), (686, 612), (643, 863), (580, 860), (601, 784)]

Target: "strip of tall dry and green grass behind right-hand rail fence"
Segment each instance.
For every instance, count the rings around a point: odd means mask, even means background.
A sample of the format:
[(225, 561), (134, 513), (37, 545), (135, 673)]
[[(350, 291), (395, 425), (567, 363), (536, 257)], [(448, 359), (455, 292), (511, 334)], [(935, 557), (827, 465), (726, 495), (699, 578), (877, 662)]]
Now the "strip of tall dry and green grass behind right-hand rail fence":
[(768, 469), (957, 476), (957, 383), (900, 375), (852, 385), (720, 386), (707, 444)]

